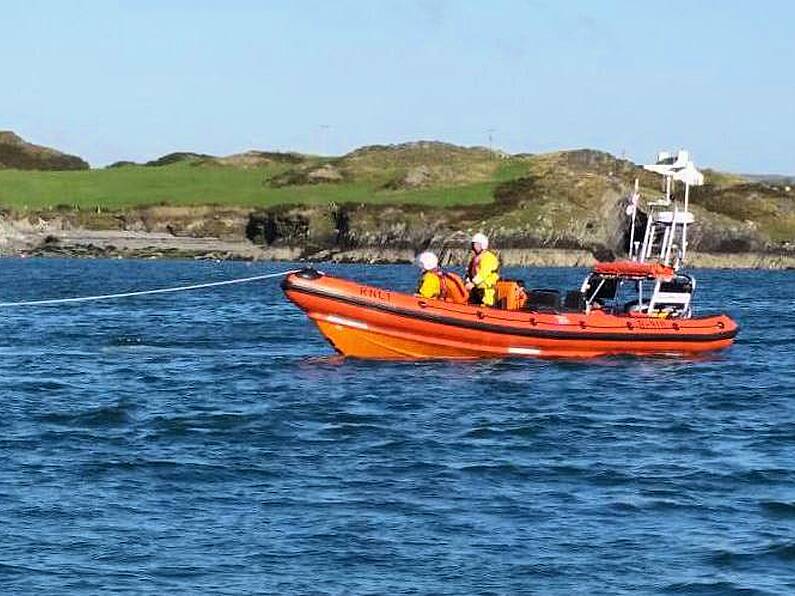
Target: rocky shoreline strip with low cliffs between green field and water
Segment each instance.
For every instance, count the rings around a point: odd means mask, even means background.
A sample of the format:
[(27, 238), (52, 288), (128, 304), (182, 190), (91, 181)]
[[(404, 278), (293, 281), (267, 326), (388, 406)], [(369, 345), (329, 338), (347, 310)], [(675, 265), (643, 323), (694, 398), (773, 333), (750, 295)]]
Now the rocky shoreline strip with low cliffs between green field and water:
[[(540, 237), (520, 225), (495, 227), (480, 215), (463, 208), (394, 206), (6, 213), (0, 217), (0, 254), (374, 264), (411, 263), (418, 252), (432, 249), (444, 264), (460, 265), (467, 259), (467, 239), (474, 229), (492, 235), (506, 266), (589, 267), (597, 259), (623, 254), (615, 232), (599, 242), (587, 236)], [(689, 265), (795, 269), (795, 253), (694, 249)]]

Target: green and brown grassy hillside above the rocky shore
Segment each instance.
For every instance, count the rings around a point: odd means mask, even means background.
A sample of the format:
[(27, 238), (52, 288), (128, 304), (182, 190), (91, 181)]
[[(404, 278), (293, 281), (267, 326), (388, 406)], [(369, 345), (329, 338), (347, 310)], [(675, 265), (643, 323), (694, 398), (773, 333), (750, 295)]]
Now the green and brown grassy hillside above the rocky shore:
[[(691, 235), (694, 246), (742, 251), (789, 250), (795, 244), (792, 188), (713, 170), (705, 175), (707, 184), (691, 195), (698, 221)], [(152, 205), (257, 211), (285, 205), (395, 205), (401, 206), (396, 211), (403, 220), (394, 226), (411, 227), (419, 225), (409, 217), (414, 205), (422, 208), (418, 217), (433, 214), (450, 229), (480, 227), (500, 233), (506, 242), (534, 239), (543, 246), (583, 247), (617, 242), (623, 197), (635, 178), (644, 199), (659, 196), (659, 177), (592, 150), (507, 156), (416, 142), (363, 147), (340, 157), (174, 153), (102, 170), (0, 168), (0, 207), (112, 214)], [(378, 217), (357, 234), (378, 227)]]

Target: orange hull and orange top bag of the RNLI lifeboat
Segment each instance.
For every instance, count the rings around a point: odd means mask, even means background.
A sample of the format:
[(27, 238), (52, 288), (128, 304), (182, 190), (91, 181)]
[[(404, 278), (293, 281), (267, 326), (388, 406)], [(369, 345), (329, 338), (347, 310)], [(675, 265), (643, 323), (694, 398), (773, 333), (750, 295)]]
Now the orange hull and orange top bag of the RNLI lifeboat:
[[(669, 271), (605, 267), (602, 273), (667, 277)], [(533, 310), (532, 304), (521, 310), (452, 304), (314, 269), (288, 275), (282, 288), (338, 352), (356, 358), (686, 355), (727, 348), (738, 331), (726, 315), (661, 318), (601, 309)]]

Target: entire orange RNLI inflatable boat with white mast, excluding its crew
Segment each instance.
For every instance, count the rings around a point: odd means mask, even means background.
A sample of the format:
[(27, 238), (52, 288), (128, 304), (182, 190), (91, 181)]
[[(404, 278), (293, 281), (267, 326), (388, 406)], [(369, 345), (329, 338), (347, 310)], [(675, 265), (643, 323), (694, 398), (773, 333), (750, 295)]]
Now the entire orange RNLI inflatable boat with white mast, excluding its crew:
[[(688, 355), (729, 347), (737, 324), (725, 314), (695, 316), (696, 280), (681, 271), (687, 247), (689, 187), (703, 177), (687, 159), (663, 155), (665, 197), (639, 222), (639, 193), (629, 197), (628, 259), (598, 263), (579, 289), (497, 288), (494, 307), (457, 304), (364, 285), (306, 268), (282, 288), (345, 356), (373, 359)], [(672, 197), (685, 184), (684, 208)]]

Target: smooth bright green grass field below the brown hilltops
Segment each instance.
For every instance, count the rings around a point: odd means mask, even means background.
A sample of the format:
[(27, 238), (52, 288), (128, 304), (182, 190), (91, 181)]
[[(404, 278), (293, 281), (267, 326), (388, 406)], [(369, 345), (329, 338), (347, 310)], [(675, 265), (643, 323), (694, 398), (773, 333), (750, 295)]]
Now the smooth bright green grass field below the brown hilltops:
[(266, 180), (284, 169), (283, 165), (243, 169), (177, 163), (71, 172), (0, 170), (0, 205), (21, 210), (124, 209), (161, 204), (267, 207), (329, 202), (468, 205), (492, 201), (494, 187), (521, 175), (526, 165), (510, 161), (500, 164), (490, 181), (397, 191), (384, 190), (384, 179), (370, 176), (341, 183), (269, 186)]

